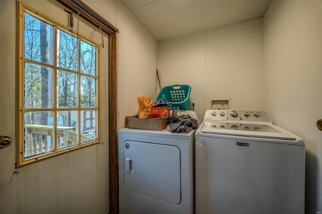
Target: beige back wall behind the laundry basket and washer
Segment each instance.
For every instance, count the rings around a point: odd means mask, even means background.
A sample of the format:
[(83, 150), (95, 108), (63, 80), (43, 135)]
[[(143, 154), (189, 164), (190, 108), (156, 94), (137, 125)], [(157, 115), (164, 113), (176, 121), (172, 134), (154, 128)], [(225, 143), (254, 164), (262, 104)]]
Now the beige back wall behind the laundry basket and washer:
[(159, 42), (162, 87), (191, 85), (190, 107), (202, 121), (210, 99), (234, 109), (264, 109), (262, 18)]

